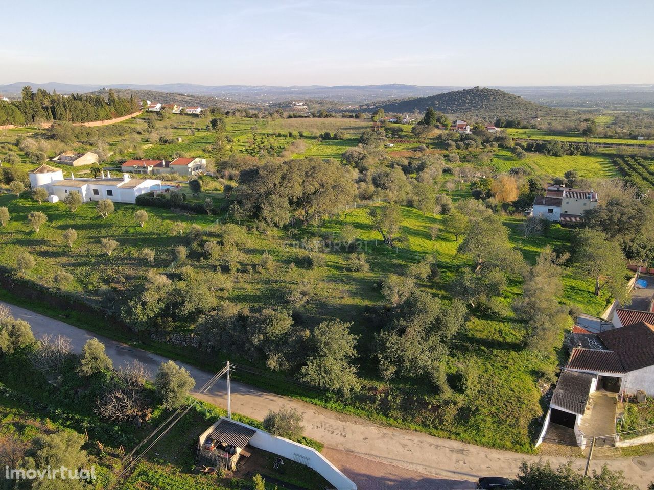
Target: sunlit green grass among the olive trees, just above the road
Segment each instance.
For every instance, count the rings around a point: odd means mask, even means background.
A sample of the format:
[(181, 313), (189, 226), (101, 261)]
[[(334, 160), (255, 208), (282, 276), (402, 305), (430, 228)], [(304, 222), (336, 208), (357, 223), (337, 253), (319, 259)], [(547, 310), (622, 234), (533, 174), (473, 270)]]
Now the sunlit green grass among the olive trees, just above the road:
[[(56, 287), (52, 282), (54, 272), (67, 270), (74, 277), (74, 281), (65, 287), (67, 293), (91, 302), (97, 301), (97, 291), (101, 287), (111, 285), (118, 291), (128, 289), (132, 282), (145, 275), (150, 267), (138, 256), (142, 247), (156, 250), (155, 269), (162, 271), (167, 268), (173, 260), (175, 246), (186, 244), (185, 237), (171, 237), (169, 234), (175, 221), (193, 222), (208, 229), (216, 218), (177, 215), (169, 210), (148, 208), (150, 218), (141, 228), (132, 218), (137, 206), (129, 204), (116, 204), (116, 212), (106, 220), (97, 215), (91, 203), (71, 213), (61, 203), (39, 206), (29, 198), (16, 199), (15, 196), (3, 195), (0, 196), (0, 206), (7, 206), (12, 214), (12, 220), (0, 233), (0, 265), (11, 268), (19, 252), (29, 251), (36, 257), (37, 266), (29, 272), (28, 280), (46, 287)], [(33, 233), (26, 223), (26, 214), (32, 210), (41, 210), (49, 218), (38, 234)], [(404, 382), (386, 384), (379, 379), (374, 364), (367, 359), (373, 330), (365, 320), (366, 308), (383, 301), (379, 282), (392, 272), (404, 272), (408, 265), (419, 261), (424, 255), (436, 252), (442, 274), (432, 291), (447, 297), (449, 282), (465, 262), (456, 253), (458, 243), (453, 235), (443, 231), (435, 241), (429, 237), (428, 228), (440, 223), (441, 216), (424, 216), (414, 208), (403, 207), (403, 229), (408, 240), (398, 248), (388, 248), (382, 244), (379, 233), (371, 228), (367, 210), (366, 206), (353, 208), (325, 221), (314, 232), (338, 233), (346, 223), (354, 225), (362, 240), (361, 246), (366, 250), (370, 272), (349, 271), (349, 254), (344, 252), (328, 252), (324, 267), (307, 269), (303, 252), (293, 246), (298, 240), (297, 236), (290, 237), (287, 231), (281, 230), (271, 230), (267, 235), (250, 231), (249, 244), (241, 250), (243, 257), (239, 272), (231, 276), (222, 274), (222, 278), (233, 285), (228, 298), (252, 307), (285, 306), (286, 291), (300, 278), (313, 278), (319, 295), (305, 307), (307, 325), (316, 325), (329, 318), (353, 321), (353, 333), (361, 336), (357, 363), (366, 389), (390, 392), (388, 399), (383, 397), (373, 404), (367, 397), (355, 397), (348, 404), (329, 395), (315, 393), (305, 393), (303, 398), (328, 408), (351, 411), (439, 436), (530, 451), (532, 424), (542, 414), (537, 381), (543, 372), (551, 372), (557, 361), (555, 357), (534, 357), (523, 348), (521, 324), (510, 310), (501, 318), (473, 316), (466, 331), (457, 338), (446, 363), (449, 372), (454, 374), (458, 365), (473, 360), (483, 373), (481, 382), (492, 389), (484, 390), (478, 399), (465, 400), (449, 418), (443, 419), (445, 408), (438, 408), (438, 398), (428, 387), (419, 388)], [(546, 244), (557, 250), (566, 248), (569, 231), (555, 226), (549, 238), (526, 239), (519, 229), (521, 221), (522, 218), (505, 218), (504, 223), (511, 231), (513, 245), (530, 263), (535, 261)], [(69, 227), (78, 231), (78, 240), (72, 250), (61, 238), (63, 231)], [(119, 246), (111, 257), (99, 250), (99, 237), (111, 237), (118, 241)], [(247, 266), (254, 268), (266, 251), (273, 256), (277, 264), (275, 269), (256, 274), (247, 272)], [(188, 264), (207, 274), (214, 273), (215, 265), (205, 260), (200, 252), (192, 248), (189, 252)], [(298, 267), (290, 270), (290, 263)], [(519, 282), (509, 287), (504, 296), (506, 304), (520, 291)], [(572, 270), (564, 278), (560, 301), (579, 306), (589, 314), (598, 314), (606, 304), (606, 298), (593, 295), (591, 282), (579, 280)], [(173, 331), (188, 331), (188, 325), (177, 325)], [(107, 335), (111, 335), (111, 332)], [(433, 404), (434, 409), (427, 410), (422, 403), (412, 401), (418, 393), (420, 399)], [(500, 435), (495, 430), (497, 428), (504, 432)], [(506, 436), (507, 433), (511, 435)]]

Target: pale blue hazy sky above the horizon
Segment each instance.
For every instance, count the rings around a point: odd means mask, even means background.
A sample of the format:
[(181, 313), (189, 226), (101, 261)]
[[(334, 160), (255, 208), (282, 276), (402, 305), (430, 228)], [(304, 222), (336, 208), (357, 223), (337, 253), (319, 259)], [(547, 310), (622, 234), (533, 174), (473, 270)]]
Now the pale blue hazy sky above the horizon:
[(29, 8), (0, 0), (0, 7), (0, 84), (654, 83), (650, 0), (33, 0)]

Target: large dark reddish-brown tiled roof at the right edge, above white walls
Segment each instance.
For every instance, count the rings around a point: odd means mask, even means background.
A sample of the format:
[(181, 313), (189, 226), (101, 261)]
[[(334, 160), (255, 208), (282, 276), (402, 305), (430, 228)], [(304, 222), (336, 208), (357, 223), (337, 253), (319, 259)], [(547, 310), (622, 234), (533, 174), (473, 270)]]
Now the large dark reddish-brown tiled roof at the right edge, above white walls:
[(640, 321), (597, 336), (615, 352), (626, 371), (654, 366), (654, 327), (649, 323)]

